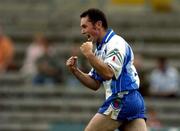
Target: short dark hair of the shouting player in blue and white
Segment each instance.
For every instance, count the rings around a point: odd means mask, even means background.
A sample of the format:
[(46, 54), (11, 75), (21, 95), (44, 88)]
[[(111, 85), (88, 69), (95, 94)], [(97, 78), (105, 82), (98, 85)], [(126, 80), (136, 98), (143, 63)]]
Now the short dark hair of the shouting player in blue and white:
[(102, 21), (102, 26), (104, 27), (104, 29), (108, 28), (106, 16), (101, 10), (90, 8), (80, 15), (81, 18), (86, 16), (88, 16), (89, 20), (93, 24), (95, 24), (97, 21)]

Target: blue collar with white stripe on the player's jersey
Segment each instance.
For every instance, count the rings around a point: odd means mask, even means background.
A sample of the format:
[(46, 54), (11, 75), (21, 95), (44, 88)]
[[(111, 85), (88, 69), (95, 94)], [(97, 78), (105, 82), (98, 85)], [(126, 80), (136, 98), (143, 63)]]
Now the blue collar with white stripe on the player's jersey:
[(103, 44), (107, 43), (115, 35), (112, 29), (109, 29), (106, 35), (103, 37), (101, 43), (96, 43), (97, 50), (101, 50)]

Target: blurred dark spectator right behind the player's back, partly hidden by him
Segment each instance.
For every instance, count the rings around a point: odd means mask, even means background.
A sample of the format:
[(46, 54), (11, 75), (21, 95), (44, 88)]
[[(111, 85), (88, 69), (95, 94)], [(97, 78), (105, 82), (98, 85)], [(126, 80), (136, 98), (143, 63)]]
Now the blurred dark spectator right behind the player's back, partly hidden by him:
[(147, 75), (143, 67), (143, 57), (140, 54), (135, 54), (134, 56), (134, 66), (136, 67), (136, 70), (139, 75), (140, 79), (140, 88), (139, 91), (143, 96), (149, 95), (149, 85), (147, 81)]

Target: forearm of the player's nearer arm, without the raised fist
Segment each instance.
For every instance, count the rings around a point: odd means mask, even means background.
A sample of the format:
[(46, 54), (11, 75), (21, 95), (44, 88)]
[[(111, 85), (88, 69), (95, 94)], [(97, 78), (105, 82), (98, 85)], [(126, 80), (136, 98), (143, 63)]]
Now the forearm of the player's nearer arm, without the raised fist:
[(91, 66), (98, 72), (100, 76), (103, 77), (103, 79), (109, 80), (113, 77), (113, 70), (94, 54), (88, 55), (87, 59)]

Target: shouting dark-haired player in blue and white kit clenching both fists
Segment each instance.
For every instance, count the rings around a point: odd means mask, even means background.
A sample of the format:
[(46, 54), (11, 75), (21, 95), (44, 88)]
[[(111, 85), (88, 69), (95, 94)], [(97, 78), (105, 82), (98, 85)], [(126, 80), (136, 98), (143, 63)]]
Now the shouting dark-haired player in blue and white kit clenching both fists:
[[(66, 65), (86, 87), (97, 90), (103, 85), (106, 100), (91, 119), (85, 131), (146, 131), (145, 107), (140, 93), (139, 78), (133, 66), (133, 52), (126, 41), (116, 35), (104, 13), (88, 9), (81, 15), (81, 33), (88, 41), (80, 47), (92, 66), (89, 74), (77, 67), (77, 56), (70, 57)], [(96, 50), (93, 53), (93, 43)]]

